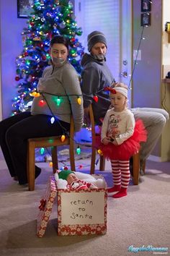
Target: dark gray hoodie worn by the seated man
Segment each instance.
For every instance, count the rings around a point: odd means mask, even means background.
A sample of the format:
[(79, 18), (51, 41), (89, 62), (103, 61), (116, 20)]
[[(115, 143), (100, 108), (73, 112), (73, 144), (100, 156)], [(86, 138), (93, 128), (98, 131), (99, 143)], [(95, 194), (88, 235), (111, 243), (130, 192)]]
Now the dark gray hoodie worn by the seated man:
[[(101, 124), (99, 118), (103, 118), (110, 106), (109, 93), (103, 89), (115, 82), (112, 73), (105, 61), (94, 59), (91, 54), (84, 54), (81, 59), (83, 72), (81, 74), (81, 90), (84, 97), (84, 108), (92, 103), (94, 119), (97, 124)], [(98, 101), (94, 101), (97, 95)]]

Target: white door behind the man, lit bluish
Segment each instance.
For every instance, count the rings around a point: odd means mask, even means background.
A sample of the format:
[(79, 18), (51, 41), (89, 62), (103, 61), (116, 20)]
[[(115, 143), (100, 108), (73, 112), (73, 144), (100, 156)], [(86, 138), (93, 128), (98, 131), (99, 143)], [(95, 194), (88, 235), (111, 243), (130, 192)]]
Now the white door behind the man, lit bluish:
[[(76, 22), (82, 28), (79, 37), (87, 51), (86, 38), (99, 30), (107, 38), (107, 64), (116, 81), (130, 88), (132, 70), (132, 0), (75, 0)], [(131, 106), (131, 90), (129, 90)]]

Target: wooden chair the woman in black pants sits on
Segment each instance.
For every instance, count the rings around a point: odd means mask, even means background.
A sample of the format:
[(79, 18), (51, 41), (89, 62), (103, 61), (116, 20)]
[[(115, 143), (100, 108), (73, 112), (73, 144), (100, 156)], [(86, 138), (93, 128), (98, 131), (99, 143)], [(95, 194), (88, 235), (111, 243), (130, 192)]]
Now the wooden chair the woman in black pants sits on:
[(73, 117), (71, 116), (71, 126), (69, 137), (66, 136), (66, 139), (61, 142), (61, 136), (53, 137), (36, 137), (30, 138), (27, 140), (27, 180), (28, 180), (28, 189), (30, 191), (35, 189), (35, 148), (48, 148), (52, 147), (52, 162), (53, 162), (53, 172), (58, 168), (58, 155), (57, 147), (63, 145), (69, 145), (70, 153), (70, 163), (71, 170), (76, 171), (75, 162), (74, 162), (74, 126), (73, 126)]

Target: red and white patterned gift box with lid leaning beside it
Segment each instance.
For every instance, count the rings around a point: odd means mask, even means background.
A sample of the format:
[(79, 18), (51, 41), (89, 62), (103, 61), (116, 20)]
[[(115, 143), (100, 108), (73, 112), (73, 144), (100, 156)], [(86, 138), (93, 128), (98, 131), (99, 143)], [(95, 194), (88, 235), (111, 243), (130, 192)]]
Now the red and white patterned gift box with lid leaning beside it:
[[(96, 179), (104, 179), (101, 175), (94, 176)], [(57, 189), (54, 177), (50, 176), (48, 189), (40, 204), (42, 209), (37, 221), (37, 236), (42, 237), (45, 234), (56, 196), (58, 236), (106, 234), (107, 185), (105, 188), (80, 191)]]

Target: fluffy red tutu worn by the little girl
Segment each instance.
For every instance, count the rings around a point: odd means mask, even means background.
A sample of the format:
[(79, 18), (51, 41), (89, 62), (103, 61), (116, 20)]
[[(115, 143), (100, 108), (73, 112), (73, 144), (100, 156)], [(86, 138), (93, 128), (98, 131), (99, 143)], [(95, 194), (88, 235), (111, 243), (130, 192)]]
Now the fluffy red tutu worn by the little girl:
[(121, 145), (114, 145), (111, 142), (104, 145), (101, 142), (101, 137), (97, 136), (97, 149), (102, 150), (102, 154), (107, 159), (128, 160), (130, 156), (138, 153), (140, 150), (140, 142), (146, 142), (146, 140), (147, 132), (143, 121), (138, 119), (135, 121), (134, 133), (128, 140), (125, 140)]

